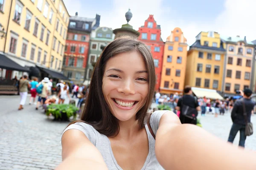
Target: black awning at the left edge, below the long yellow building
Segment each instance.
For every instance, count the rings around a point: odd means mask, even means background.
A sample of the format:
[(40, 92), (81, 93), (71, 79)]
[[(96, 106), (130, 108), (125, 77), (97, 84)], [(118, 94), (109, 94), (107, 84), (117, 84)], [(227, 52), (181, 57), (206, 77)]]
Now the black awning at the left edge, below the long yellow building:
[(0, 54), (0, 68), (4, 68), (7, 70), (30, 72), (29, 69), (22, 67), (21, 65), (12, 61), (12, 59), (9, 59), (3, 54)]

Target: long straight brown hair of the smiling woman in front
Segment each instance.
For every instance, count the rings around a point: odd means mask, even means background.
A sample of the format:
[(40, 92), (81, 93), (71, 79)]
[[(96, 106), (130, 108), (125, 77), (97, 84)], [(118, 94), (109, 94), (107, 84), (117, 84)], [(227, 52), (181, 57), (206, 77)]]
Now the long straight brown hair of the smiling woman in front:
[(138, 51), (143, 56), (148, 71), (148, 96), (145, 105), (136, 114), (140, 128), (144, 127), (156, 83), (154, 60), (151, 51), (143, 42), (127, 36), (117, 38), (103, 50), (93, 70), (81, 120), (74, 121), (70, 125), (76, 122), (85, 122), (106, 136), (116, 136), (119, 133), (118, 119), (111, 113), (102, 93), (102, 79), (108, 59), (128, 51)]

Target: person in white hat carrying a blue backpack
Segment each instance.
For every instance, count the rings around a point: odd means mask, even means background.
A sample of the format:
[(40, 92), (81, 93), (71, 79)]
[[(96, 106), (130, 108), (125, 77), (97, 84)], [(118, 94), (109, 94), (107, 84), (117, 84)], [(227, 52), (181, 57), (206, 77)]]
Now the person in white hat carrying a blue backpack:
[(49, 82), (49, 78), (44, 77), (44, 79), (38, 84), (38, 87), (36, 88), (36, 91), (38, 93), (38, 102), (35, 110), (38, 110), (38, 106), (40, 105), (41, 102), (43, 102), (43, 105), (44, 105), (44, 102), (47, 99), (48, 87), (49, 87), (49, 85), (47, 84), (48, 82)]

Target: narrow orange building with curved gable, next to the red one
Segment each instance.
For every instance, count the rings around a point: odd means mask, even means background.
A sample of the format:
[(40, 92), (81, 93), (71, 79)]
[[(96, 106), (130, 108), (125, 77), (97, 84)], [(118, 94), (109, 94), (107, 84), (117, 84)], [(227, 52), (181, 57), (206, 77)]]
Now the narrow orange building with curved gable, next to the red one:
[(182, 93), (187, 60), (187, 40), (180, 28), (174, 28), (164, 46), (160, 93)]

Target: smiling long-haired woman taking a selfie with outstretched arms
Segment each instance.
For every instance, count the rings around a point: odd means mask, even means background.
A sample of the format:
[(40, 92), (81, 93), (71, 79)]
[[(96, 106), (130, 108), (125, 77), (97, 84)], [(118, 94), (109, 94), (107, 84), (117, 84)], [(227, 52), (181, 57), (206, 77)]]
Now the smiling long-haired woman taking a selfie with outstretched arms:
[(80, 121), (63, 133), (57, 170), (255, 170), (256, 154), (233, 147), (171, 111), (148, 114), (154, 60), (138, 40), (103, 50)]

